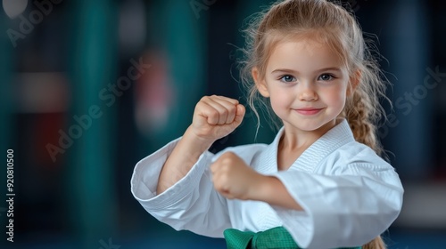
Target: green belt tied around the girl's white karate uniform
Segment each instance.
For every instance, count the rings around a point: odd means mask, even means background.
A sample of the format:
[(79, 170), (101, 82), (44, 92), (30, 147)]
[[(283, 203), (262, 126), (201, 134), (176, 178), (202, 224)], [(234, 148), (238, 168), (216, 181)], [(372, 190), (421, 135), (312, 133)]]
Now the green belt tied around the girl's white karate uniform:
[[(226, 229), (224, 236), (227, 243), (227, 249), (300, 249), (293, 237), (284, 227), (268, 229), (262, 232), (243, 232), (237, 229)], [(349, 247), (349, 249), (360, 249), (358, 247)]]

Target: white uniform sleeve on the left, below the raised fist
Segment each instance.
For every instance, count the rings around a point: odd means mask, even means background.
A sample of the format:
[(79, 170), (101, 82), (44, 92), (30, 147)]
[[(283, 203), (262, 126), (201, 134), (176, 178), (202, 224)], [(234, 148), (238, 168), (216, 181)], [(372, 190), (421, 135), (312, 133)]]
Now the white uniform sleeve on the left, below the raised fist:
[[(179, 140), (179, 139), (178, 139)], [(177, 141), (172, 141), (136, 164), (131, 191), (145, 210), (174, 229), (187, 229), (207, 237), (223, 237), (230, 228), (227, 200), (211, 182), (211, 158), (206, 151), (186, 176), (156, 196), (162, 165)]]

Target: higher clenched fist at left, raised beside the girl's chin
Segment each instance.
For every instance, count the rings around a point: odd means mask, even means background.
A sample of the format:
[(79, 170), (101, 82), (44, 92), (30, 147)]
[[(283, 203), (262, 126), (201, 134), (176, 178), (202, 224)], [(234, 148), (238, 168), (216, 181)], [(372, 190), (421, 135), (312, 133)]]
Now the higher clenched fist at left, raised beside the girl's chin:
[(217, 141), (242, 124), (245, 108), (238, 100), (223, 96), (202, 97), (194, 110), (191, 132), (207, 141)]

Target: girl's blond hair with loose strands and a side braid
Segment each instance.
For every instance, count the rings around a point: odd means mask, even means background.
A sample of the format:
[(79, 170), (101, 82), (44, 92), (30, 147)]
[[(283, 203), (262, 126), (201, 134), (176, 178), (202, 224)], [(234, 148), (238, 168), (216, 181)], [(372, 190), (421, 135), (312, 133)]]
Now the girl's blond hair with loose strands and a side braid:
[[(341, 116), (348, 120), (356, 141), (374, 149), (378, 155), (382, 154), (376, 132), (378, 121), (385, 117), (380, 100), (388, 100), (385, 97), (387, 81), (379, 68), (379, 57), (374, 56), (377, 55), (374, 53), (376, 47), (371, 41), (366, 42), (351, 12), (340, 4), (326, 0), (279, 1), (254, 15), (248, 26), (244, 32), (247, 46), (242, 50), (245, 57), (241, 61), (241, 79), (258, 125), (260, 117), (257, 108), (267, 112), (268, 116), (277, 116), (268, 99), (260, 95), (253, 83), (252, 68), (257, 68), (260, 78), (263, 78), (268, 58), (278, 43), (293, 38), (316, 38), (336, 52), (348, 68), (351, 78), (359, 82), (346, 100)], [(276, 124), (277, 127), (281, 125)], [(363, 248), (378, 249), (385, 248), (385, 245), (378, 236)]]

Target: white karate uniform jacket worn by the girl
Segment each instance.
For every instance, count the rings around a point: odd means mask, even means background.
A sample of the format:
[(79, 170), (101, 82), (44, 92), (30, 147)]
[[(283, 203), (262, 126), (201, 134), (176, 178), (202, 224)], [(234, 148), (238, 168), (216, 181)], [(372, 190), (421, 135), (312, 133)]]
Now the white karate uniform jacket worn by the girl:
[[(368, 243), (388, 229), (401, 211), (403, 188), (391, 165), (354, 140), (346, 120), (315, 141), (287, 171), (277, 171), (277, 146), (269, 144), (206, 151), (186, 176), (161, 195), (161, 168), (178, 140), (137, 163), (131, 191), (145, 210), (174, 229), (223, 237), (225, 229), (253, 232), (284, 226), (298, 245), (335, 248)], [(277, 177), (304, 211), (260, 201), (228, 200), (213, 188), (210, 165), (234, 152), (247, 165)]]

